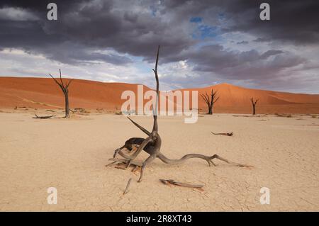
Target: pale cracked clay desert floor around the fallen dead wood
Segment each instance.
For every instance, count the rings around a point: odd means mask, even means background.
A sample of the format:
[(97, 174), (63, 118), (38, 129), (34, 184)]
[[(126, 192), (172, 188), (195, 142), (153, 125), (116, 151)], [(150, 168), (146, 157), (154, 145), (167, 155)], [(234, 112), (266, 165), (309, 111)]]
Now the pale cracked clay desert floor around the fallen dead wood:
[[(185, 124), (181, 117), (159, 117), (162, 153), (167, 157), (219, 154), (254, 168), (219, 160), (208, 167), (202, 159), (167, 165), (156, 159), (141, 183), (138, 172), (106, 167), (125, 140), (145, 137), (125, 116), (32, 117), (30, 112), (0, 113), (2, 211), (319, 210), (319, 119), (309, 115), (201, 115), (195, 124)], [(134, 119), (152, 128), (152, 118)], [(143, 153), (139, 160), (146, 157)], [(205, 186), (198, 191), (167, 186), (159, 179)], [(56, 205), (47, 203), (49, 187), (57, 188)], [(269, 205), (259, 202), (262, 187), (269, 188)]]

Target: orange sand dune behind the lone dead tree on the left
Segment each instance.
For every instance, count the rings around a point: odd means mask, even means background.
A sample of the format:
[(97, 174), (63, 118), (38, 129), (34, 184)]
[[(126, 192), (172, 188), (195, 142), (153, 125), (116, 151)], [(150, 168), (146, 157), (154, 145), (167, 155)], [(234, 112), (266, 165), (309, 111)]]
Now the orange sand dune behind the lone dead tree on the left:
[[(69, 81), (69, 79), (62, 79)], [(137, 84), (103, 83), (74, 79), (69, 86), (70, 108), (121, 111), (121, 94), (137, 92)], [(144, 86), (144, 90), (149, 90)], [(64, 96), (53, 79), (0, 77), (0, 108), (64, 108)]]

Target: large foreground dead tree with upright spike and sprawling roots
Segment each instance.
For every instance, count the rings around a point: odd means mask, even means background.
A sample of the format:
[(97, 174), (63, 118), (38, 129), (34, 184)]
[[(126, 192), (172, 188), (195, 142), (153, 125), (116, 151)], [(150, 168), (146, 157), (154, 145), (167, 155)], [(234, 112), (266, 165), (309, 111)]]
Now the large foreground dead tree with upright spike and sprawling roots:
[[(148, 130), (143, 128), (141, 125), (138, 125), (138, 123), (135, 123), (132, 119), (128, 118), (134, 125), (136, 125), (140, 130), (142, 130), (142, 132), (144, 132), (147, 135), (147, 138), (132, 137), (129, 140), (127, 140), (122, 147), (115, 150), (114, 155), (113, 155), (114, 159), (112, 159), (112, 161), (113, 161), (112, 164), (114, 162), (118, 161), (118, 162), (124, 162), (124, 163), (128, 164), (127, 166), (130, 166), (130, 164), (133, 163), (132, 162), (133, 159), (135, 159), (138, 156), (138, 154), (140, 154), (140, 152), (142, 150), (144, 150), (145, 152), (150, 154), (150, 156), (147, 157), (147, 159), (144, 162), (142, 162), (142, 167), (141, 167), (141, 171), (140, 171), (140, 179), (138, 180), (138, 182), (142, 181), (142, 176), (143, 176), (143, 172), (145, 170), (145, 166), (147, 166), (147, 164), (150, 164), (150, 162), (152, 162), (155, 158), (159, 158), (162, 162), (164, 162), (166, 164), (180, 164), (180, 163), (184, 162), (186, 159), (199, 158), (199, 159), (204, 159), (208, 163), (209, 166), (211, 166), (211, 164), (213, 164), (213, 166), (216, 166), (212, 161), (213, 159), (220, 159), (221, 161), (227, 162), (228, 164), (234, 164), (235, 166), (247, 166), (244, 164), (230, 162), (230, 161), (228, 161), (228, 159), (224, 159), (222, 157), (219, 157), (217, 154), (214, 154), (211, 157), (203, 155), (203, 154), (186, 154), (186, 155), (184, 155), (184, 157), (181, 157), (181, 159), (169, 159), (169, 158), (165, 157), (164, 154), (162, 154), (160, 152), (160, 148), (162, 145), (162, 139), (159, 136), (158, 125), (157, 125), (157, 103), (158, 103), (158, 96), (159, 96), (159, 80), (158, 80), (158, 75), (157, 75), (158, 57), (159, 57), (159, 47), (157, 49), (155, 69), (153, 69), (153, 72), (155, 73), (155, 79), (156, 79), (157, 98), (156, 98), (155, 111), (153, 111), (152, 132), (149, 132)], [(138, 145), (138, 149), (134, 149), (135, 145)], [(127, 149), (129, 151), (129, 153), (128, 154), (124, 153), (122, 151), (122, 149)], [(125, 159), (118, 159), (117, 160), (116, 159), (117, 154), (120, 154)]]

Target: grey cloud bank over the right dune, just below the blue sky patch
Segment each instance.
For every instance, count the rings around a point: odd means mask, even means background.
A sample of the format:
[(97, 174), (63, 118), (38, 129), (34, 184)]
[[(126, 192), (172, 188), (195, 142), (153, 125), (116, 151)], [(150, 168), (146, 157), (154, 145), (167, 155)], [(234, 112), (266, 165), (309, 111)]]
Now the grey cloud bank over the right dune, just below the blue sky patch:
[[(213, 72), (224, 79), (255, 79), (257, 81), (278, 76), (284, 69), (296, 67), (307, 60), (291, 52), (268, 50), (228, 51), (221, 45), (203, 46), (198, 50), (181, 53), (177, 58), (194, 64), (197, 72)], [(207, 77), (206, 77), (207, 79)]]

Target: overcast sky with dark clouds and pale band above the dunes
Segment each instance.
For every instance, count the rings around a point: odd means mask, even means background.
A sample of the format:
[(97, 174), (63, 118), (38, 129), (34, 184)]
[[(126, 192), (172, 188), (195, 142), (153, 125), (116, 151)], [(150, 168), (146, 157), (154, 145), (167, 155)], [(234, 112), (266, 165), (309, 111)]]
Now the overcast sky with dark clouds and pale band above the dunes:
[[(47, 4), (57, 4), (57, 21)], [(259, 5), (270, 5), (261, 21)], [(0, 1), (0, 76), (319, 94), (319, 1)]]

